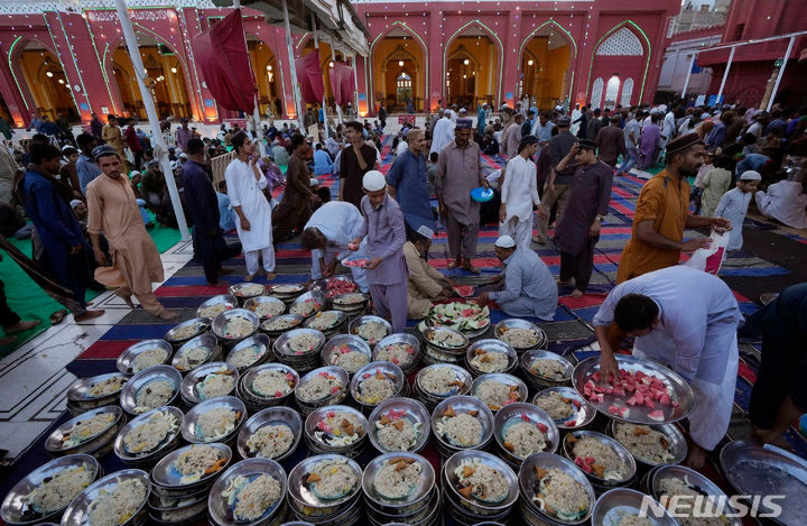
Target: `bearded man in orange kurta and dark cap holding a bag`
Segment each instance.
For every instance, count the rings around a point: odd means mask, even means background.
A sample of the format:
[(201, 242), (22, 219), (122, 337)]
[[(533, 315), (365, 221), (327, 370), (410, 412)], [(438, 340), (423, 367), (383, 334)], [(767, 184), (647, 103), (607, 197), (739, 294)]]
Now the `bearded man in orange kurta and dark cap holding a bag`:
[(692, 133), (667, 144), (667, 168), (642, 187), (631, 236), (617, 270), (617, 283), (678, 265), (682, 252), (709, 247), (709, 239), (684, 241), (684, 228), (731, 228), (727, 219), (689, 215), (689, 183), (704, 160), (704, 144)]

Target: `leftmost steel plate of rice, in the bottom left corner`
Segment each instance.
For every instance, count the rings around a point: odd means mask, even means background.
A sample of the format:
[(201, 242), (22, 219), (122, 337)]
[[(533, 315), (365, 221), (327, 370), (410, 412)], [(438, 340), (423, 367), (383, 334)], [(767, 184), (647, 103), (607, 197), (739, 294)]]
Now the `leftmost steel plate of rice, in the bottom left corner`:
[(56, 458), (31, 471), (3, 500), (0, 516), (6, 524), (36, 524), (58, 515), (102, 473), (90, 455)]

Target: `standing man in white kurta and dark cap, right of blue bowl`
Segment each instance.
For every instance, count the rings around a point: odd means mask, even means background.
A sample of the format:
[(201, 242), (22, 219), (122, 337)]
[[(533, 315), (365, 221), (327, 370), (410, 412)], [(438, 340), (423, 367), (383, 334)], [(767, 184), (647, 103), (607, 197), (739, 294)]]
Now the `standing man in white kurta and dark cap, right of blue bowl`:
[(536, 136), (526, 136), (521, 140), (518, 155), (507, 163), (501, 186), (499, 235), (512, 237), (520, 247), (529, 247), (533, 236), (533, 205), (541, 204), (536, 167), (532, 161), (537, 147)]

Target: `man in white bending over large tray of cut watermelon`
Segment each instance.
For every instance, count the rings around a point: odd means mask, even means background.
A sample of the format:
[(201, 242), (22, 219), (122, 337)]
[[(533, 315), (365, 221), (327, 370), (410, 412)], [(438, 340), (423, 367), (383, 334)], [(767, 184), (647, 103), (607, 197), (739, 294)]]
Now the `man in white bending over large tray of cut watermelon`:
[[(617, 285), (594, 316), (603, 381), (617, 372), (608, 344), (612, 323), (636, 336), (633, 355), (669, 366), (695, 392), (686, 463), (704, 465), (729, 428), (737, 382), (737, 299), (717, 276), (675, 265)], [(615, 377), (616, 378), (616, 377)]]

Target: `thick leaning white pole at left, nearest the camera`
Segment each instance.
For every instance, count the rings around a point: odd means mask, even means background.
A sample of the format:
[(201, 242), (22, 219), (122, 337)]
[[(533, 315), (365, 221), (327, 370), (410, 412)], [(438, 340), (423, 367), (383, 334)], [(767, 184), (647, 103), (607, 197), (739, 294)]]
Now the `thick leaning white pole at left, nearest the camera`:
[(163, 176), (165, 177), (165, 184), (168, 186), (168, 193), (171, 196), (171, 204), (174, 205), (174, 214), (177, 216), (179, 232), (182, 235), (182, 240), (187, 241), (190, 240), (188, 223), (185, 220), (185, 213), (182, 211), (182, 202), (179, 201), (177, 183), (174, 181), (174, 172), (171, 170), (171, 161), (169, 161), (168, 158), (168, 148), (165, 146), (165, 140), (163, 140), (162, 133), (160, 131), (160, 119), (157, 117), (157, 108), (154, 107), (154, 99), (152, 98), (152, 94), (144, 82), (146, 69), (143, 66), (143, 59), (140, 57), (140, 48), (137, 47), (135, 31), (132, 29), (132, 19), (129, 19), (129, 12), (126, 8), (125, 0), (115, 0), (115, 7), (118, 10), (120, 27), (123, 28), (123, 36), (126, 39), (129, 55), (132, 58), (132, 65), (135, 69), (137, 86), (140, 88), (140, 97), (143, 98), (146, 115), (148, 115), (148, 124), (152, 129), (154, 153), (160, 160), (160, 167), (162, 169)]

